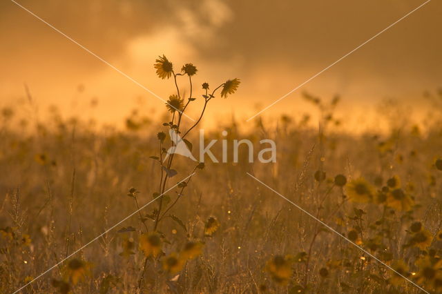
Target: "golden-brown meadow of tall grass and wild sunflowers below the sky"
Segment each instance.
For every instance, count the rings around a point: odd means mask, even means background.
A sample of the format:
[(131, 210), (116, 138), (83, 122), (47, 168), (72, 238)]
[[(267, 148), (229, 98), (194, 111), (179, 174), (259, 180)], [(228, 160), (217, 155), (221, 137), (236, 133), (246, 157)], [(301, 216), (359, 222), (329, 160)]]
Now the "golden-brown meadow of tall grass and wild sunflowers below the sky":
[[(442, 291), (437, 108), (425, 124), (392, 109), (385, 132), (349, 134), (334, 115), (338, 98), (306, 93), (320, 128), (308, 116), (282, 116), (247, 130), (231, 120), (207, 136), (227, 130), (228, 141), (247, 138), (257, 150), (271, 138), (276, 163), (250, 163), (242, 148), (238, 163), (175, 156), (165, 166), (171, 142), (160, 133), (180, 127), (171, 108), (183, 109), (179, 96), (167, 105), (171, 121), (139, 113), (124, 130), (3, 108), (1, 293)], [(442, 94), (432, 97), (441, 106)], [(189, 133), (189, 143), (197, 139)]]

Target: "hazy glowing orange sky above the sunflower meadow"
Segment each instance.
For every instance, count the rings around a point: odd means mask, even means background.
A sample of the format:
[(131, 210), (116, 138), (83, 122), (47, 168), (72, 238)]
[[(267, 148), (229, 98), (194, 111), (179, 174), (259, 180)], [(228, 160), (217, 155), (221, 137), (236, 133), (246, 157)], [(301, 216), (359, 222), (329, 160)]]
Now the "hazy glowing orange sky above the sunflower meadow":
[[(174, 87), (155, 76), (158, 55), (177, 69), (197, 66), (197, 88), (240, 78), (235, 95), (211, 102), (209, 122), (245, 121), (424, 2), (17, 0), (162, 99)], [(386, 98), (419, 112), (423, 92), (442, 86), (441, 15), (442, 3), (430, 1), (262, 115), (311, 110), (303, 91), (340, 95), (343, 117), (375, 111)], [(133, 108), (164, 112), (161, 99), (9, 0), (0, 3), (0, 43), (0, 106), (26, 103), (26, 85), (42, 112), (55, 105), (66, 117), (119, 124)]]

